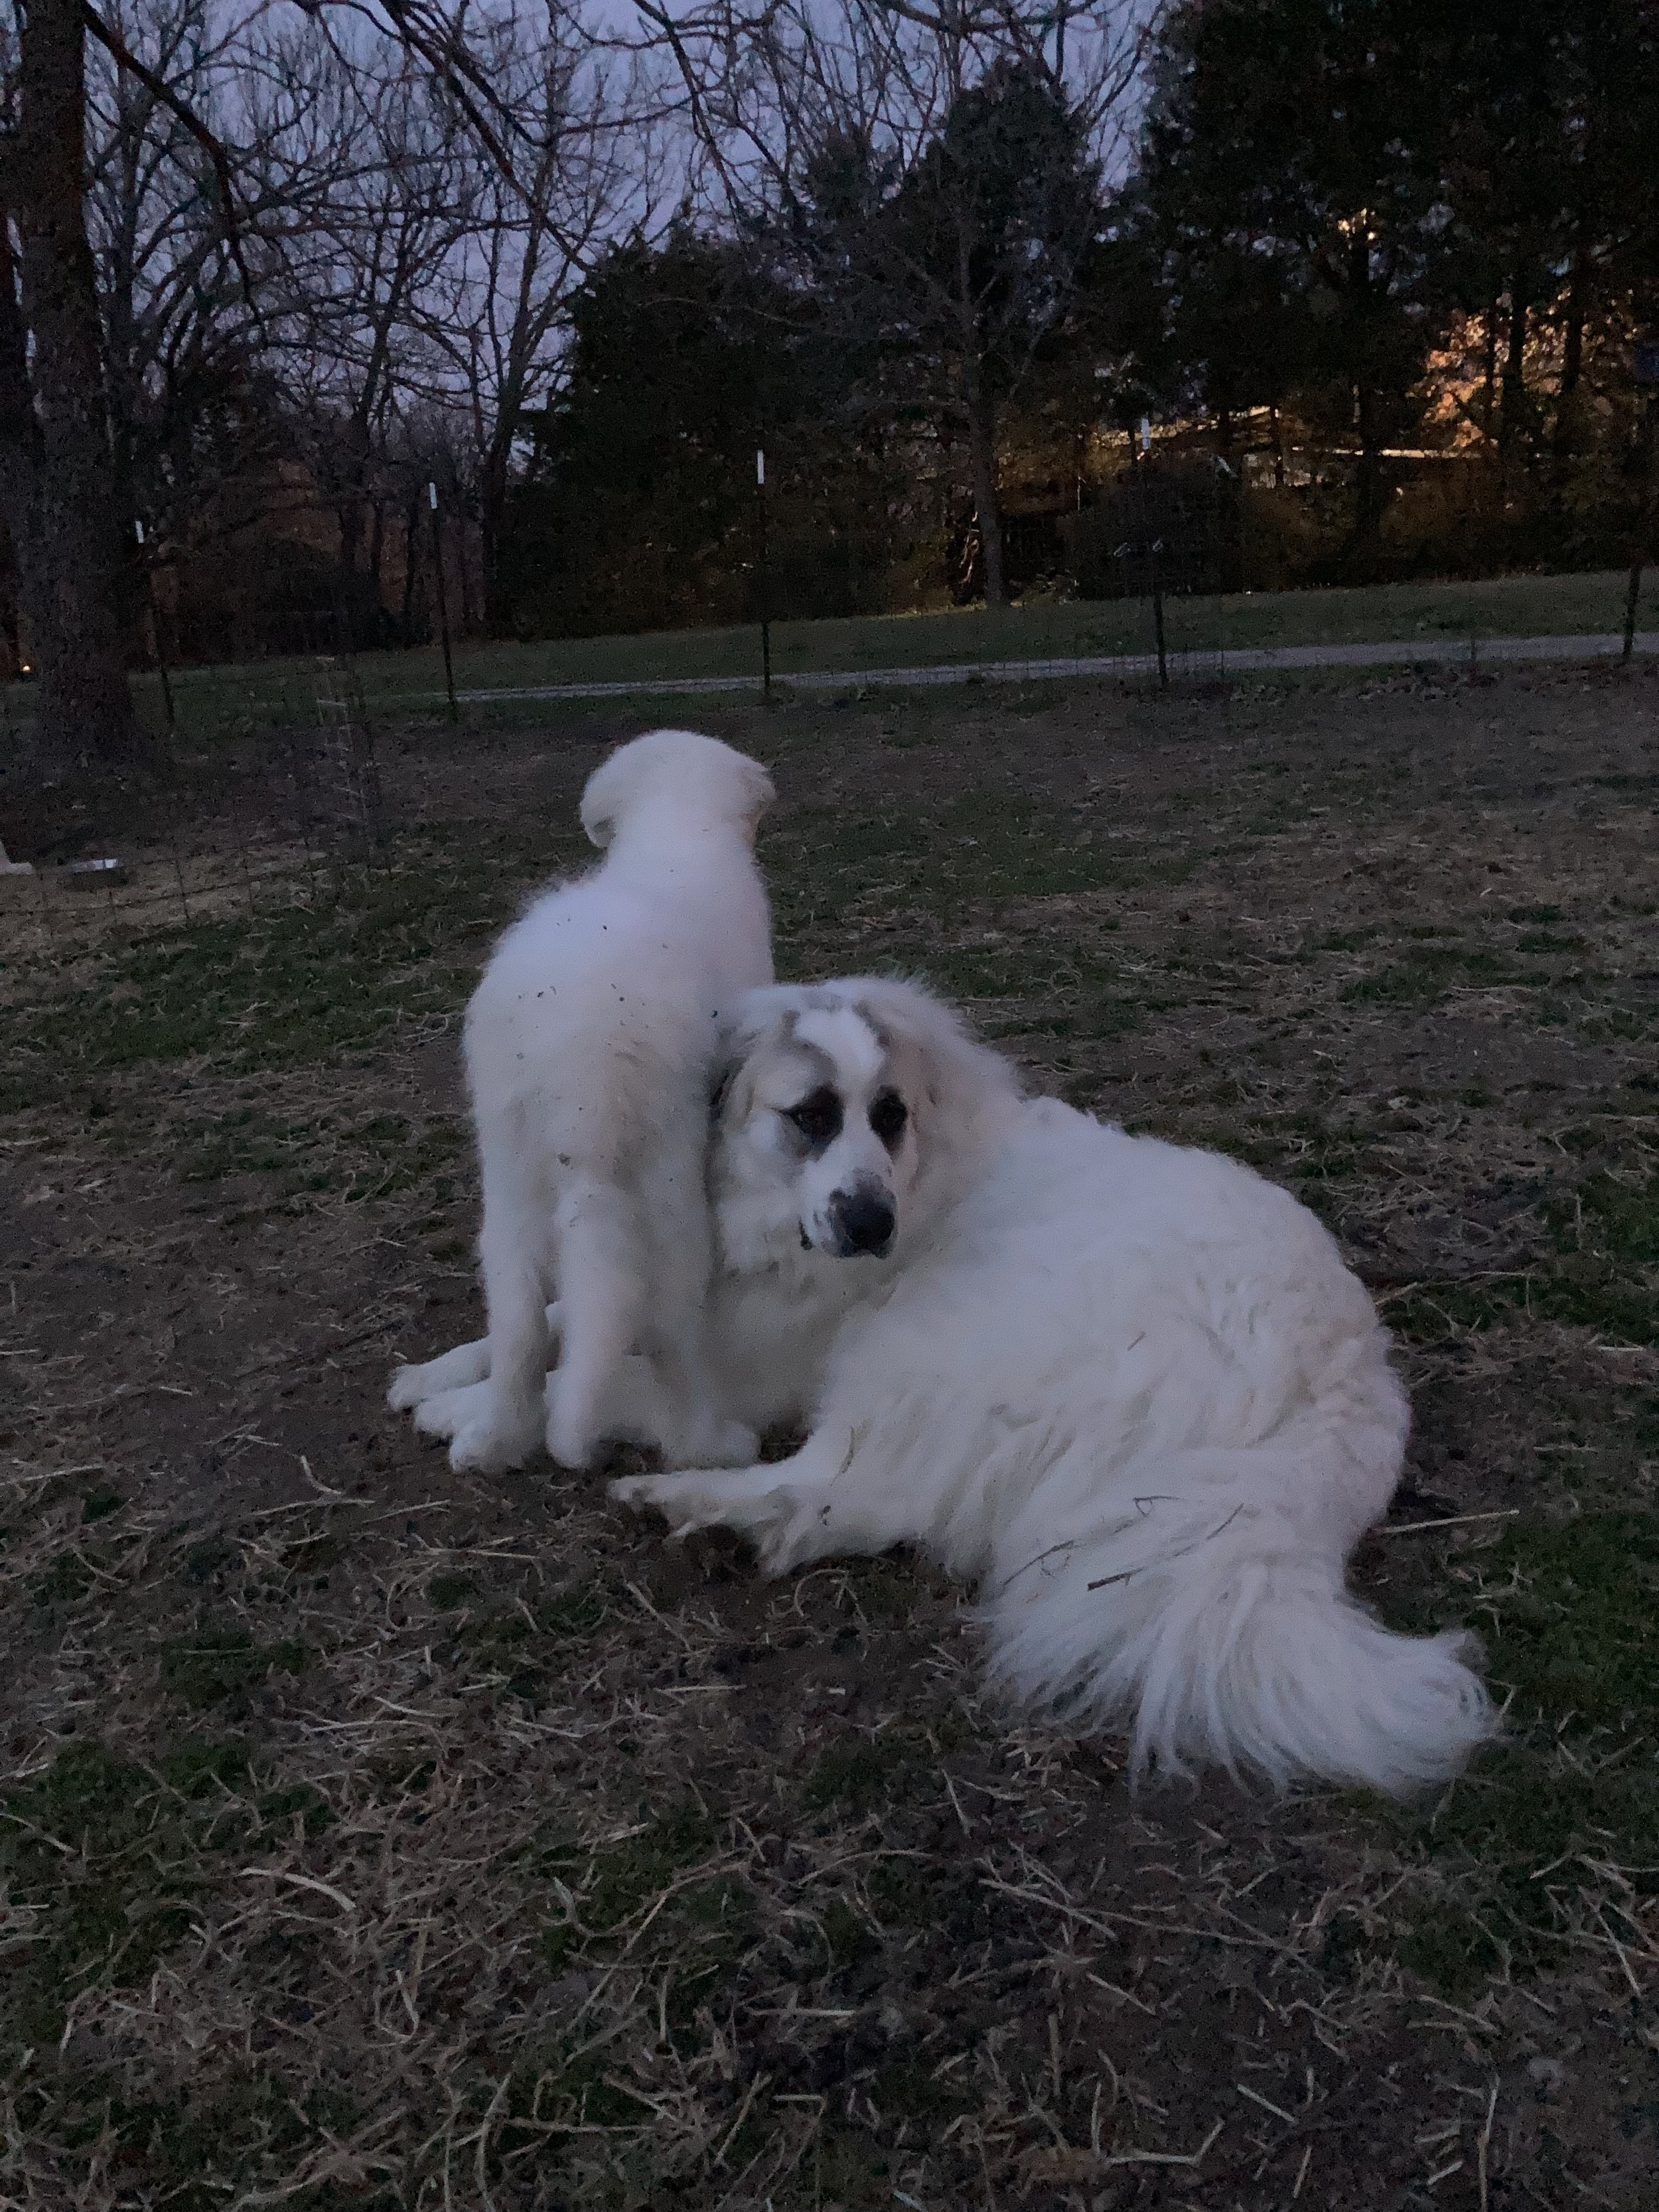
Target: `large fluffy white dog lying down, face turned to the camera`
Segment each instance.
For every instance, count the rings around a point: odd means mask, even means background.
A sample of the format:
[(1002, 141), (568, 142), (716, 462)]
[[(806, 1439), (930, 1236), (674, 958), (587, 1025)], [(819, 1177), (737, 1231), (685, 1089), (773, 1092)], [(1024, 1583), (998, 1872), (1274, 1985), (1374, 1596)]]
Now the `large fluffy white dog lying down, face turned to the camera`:
[[(914, 1542), (982, 1588), (991, 1668), (1192, 1761), (1405, 1792), (1493, 1732), (1460, 1635), (1347, 1590), (1405, 1394), (1321, 1223), (1212, 1152), (1055, 1099), (922, 993), (757, 993), (712, 1161), (712, 1343), (790, 1460), (615, 1484), (770, 1573)], [(836, 1294), (834, 1272), (847, 1281)]]

